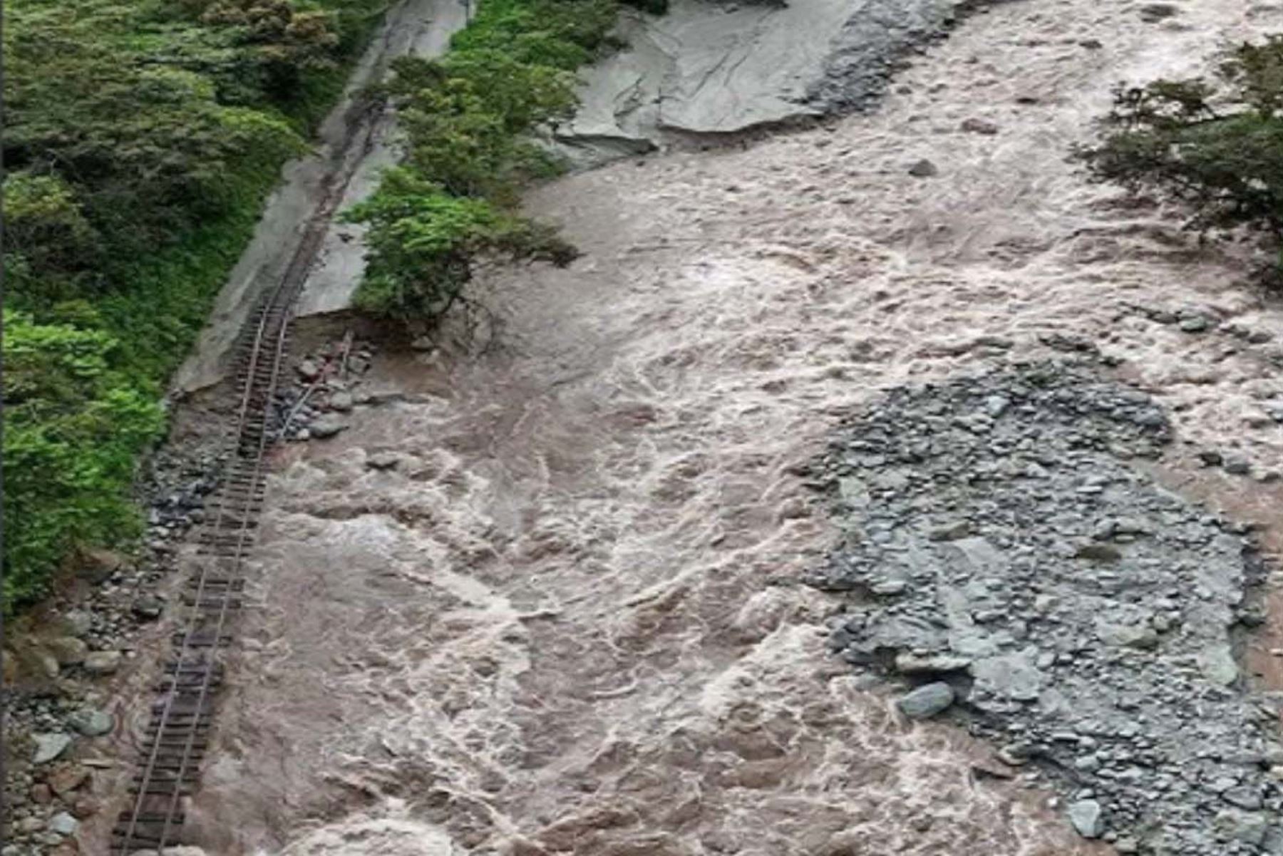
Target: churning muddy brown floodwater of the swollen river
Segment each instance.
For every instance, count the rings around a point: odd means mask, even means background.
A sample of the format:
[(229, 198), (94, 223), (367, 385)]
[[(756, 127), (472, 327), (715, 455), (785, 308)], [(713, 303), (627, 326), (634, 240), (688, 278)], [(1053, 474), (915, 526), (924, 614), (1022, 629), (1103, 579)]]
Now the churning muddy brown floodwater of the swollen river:
[(1283, 336), (1250, 248), (1065, 162), (1111, 85), (1196, 73), (1283, 5), (1142, 5), (998, 4), (869, 114), (534, 191), (584, 257), (488, 271), (495, 347), (382, 353), (399, 400), (278, 453), (189, 814), (209, 851), (1111, 852), (828, 653), (837, 601), (799, 580), (835, 535), (801, 474), (879, 389), (1049, 332), (1125, 361), (1180, 438), (1283, 459), (1245, 422), (1268, 363), (1144, 312)]

